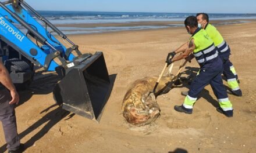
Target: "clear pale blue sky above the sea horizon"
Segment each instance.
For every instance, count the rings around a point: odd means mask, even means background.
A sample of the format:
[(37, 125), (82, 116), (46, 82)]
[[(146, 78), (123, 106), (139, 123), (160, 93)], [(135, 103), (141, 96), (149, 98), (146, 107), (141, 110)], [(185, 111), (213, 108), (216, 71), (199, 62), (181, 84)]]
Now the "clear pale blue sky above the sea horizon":
[(24, 0), (35, 10), (256, 13), (255, 0)]

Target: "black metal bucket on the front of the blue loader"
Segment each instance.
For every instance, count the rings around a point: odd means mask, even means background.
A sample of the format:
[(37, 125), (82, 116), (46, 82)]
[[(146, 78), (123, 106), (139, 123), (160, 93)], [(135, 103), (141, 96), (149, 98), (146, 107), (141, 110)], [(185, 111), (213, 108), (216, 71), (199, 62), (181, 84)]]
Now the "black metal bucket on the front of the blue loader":
[(72, 67), (54, 88), (56, 103), (64, 110), (99, 121), (112, 90), (102, 52)]

